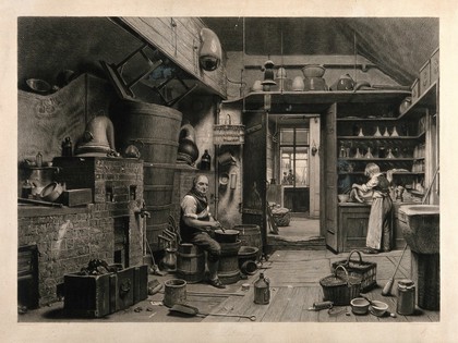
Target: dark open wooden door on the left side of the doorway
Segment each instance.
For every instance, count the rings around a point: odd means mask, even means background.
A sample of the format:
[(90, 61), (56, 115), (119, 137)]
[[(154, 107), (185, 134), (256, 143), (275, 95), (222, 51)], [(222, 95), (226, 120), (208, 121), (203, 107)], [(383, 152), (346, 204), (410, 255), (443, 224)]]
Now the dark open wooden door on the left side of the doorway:
[(266, 144), (267, 113), (245, 113), (243, 146), (242, 222), (260, 225), (263, 247), (267, 243), (266, 229)]

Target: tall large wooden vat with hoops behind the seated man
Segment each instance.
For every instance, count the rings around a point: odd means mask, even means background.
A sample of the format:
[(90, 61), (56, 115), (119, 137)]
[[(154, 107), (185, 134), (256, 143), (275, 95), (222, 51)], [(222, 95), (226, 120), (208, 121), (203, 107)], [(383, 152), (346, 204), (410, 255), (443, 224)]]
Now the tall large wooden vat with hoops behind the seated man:
[(168, 225), (173, 195), (173, 175), (182, 113), (172, 108), (123, 100), (114, 110), (120, 151), (135, 144), (143, 159), (143, 198), (150, 218), (146, 238), (158, 250), (158, 235)]

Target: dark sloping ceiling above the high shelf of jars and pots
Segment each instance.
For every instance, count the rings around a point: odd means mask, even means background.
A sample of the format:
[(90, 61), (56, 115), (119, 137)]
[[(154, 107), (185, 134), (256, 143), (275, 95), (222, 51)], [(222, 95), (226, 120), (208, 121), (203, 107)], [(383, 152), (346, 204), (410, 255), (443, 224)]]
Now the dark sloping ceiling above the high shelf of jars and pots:
[(437, 17), (203, 17), (226, 51), (361, 54), (410, 85), (438, 47)]

